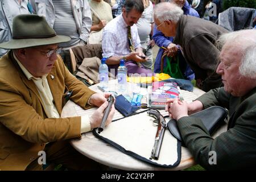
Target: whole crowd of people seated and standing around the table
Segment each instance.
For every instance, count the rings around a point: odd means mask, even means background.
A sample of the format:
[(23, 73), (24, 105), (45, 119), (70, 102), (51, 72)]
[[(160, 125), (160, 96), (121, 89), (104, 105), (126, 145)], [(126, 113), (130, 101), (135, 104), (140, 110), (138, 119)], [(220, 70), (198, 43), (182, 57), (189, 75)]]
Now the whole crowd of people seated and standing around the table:
[[(163, 55), (179, 57), (184, 78), (195, 79), (207, 92), (191, 104), (171, 99), (166, 105), (196, 162), (206, 169), (256, 169), (253, 27), (229, 31), (216, 17), (200, 18), (200, 1), (0, 2), (0, 170), (43, 169), (39, 151), (46, 152), (47, 163), (67, 169), (105, 169), (67, 142), (99, 127), (108, 106), (109, 93), (90, 90), (67, 67), (71, 48), (95, 44), (115, 75), (122, 59), (128, 74), (152, 75), (161, 72)], [(153, 62), (155, 44), (159, 52)], [(71, 90), (77, 105), (98, 109), (90, 117), (61, 118), (63, 96)], [(199, 118), (189, 117), (213, 105), (229, 110), (228, 131), (215, 139)], [(106, 125), (114, 113), (113, 105)], [(217, 164), (209, 164), (209, 151), (216, 151)]]

